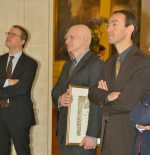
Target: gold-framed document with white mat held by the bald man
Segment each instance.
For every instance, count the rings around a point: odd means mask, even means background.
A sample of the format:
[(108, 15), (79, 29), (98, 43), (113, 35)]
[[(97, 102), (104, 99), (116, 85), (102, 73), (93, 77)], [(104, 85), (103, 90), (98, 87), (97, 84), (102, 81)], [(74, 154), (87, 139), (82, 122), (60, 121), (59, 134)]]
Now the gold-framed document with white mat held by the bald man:
[(88, 87), (69, 86), (73, 100), (68, 107), (66, 145), (78, 145), (86, 135), (90, 107), (88, 91)]

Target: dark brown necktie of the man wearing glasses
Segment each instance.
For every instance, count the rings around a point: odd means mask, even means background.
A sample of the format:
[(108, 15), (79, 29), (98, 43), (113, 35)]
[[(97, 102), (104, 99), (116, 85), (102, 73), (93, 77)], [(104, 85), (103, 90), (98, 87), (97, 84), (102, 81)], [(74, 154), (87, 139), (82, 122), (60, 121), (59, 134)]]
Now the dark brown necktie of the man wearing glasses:
[[(6, 70), (6, 76), (7, 79), (11, 78), (11, 74), (12, 74), (12, 59), (14, 58), (14, 56), (10, 56), (10, 60), (7, 66), (7, 70)], [(7, 103), (7, 99), (0, 99), (0, 108), (6, 108), (8, 107), (8, 103)]]

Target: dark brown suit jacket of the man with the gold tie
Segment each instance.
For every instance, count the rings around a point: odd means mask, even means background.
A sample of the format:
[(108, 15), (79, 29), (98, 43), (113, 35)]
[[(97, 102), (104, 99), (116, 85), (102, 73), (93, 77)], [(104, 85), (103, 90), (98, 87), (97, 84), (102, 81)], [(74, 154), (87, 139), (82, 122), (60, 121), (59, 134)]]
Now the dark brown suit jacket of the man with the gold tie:
[[(103, 103), (102, 154), (128, 155), (131, 153), (134, 128), (129, 119), (129, 112), (143, 96), (144, 89), (150, 82), (150, 59), (135, 46), (126, 55), (120, 72), (115, 79), (117, 55), (112, 56), (104, 66), (102, 77), (108, 90), (90, 89), (91, 102)], [(118, 99), (105, 103), (110, 92), (121, 92)]]

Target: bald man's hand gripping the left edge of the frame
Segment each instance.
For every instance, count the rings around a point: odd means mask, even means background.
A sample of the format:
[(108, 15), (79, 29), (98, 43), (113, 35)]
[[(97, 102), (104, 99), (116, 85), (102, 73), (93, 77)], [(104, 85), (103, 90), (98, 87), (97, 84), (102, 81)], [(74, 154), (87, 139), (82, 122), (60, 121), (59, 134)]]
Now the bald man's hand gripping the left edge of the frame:
[(61, 106), (67, 107), (72, 102), (72, 96), (66, 92), (59, 97), (58, 102)]

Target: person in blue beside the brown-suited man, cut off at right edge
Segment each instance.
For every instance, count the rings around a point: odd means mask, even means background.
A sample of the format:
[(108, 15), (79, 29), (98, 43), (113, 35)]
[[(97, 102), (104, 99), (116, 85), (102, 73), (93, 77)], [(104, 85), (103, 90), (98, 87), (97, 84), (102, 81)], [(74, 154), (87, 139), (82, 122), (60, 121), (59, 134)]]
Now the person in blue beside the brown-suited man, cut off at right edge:
[[(150, 154), (150, 93), (145, 90), (143, 99), (138, 102), (130, 113), (135, 126), (132, 155)], [(141, 125), (142, 124), (142, 125)]]

